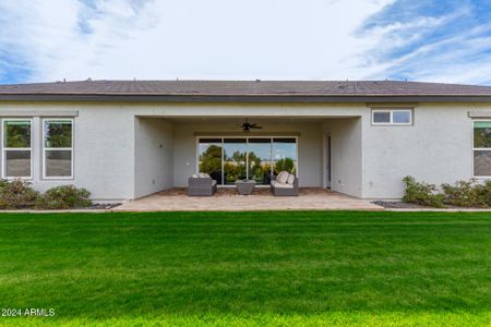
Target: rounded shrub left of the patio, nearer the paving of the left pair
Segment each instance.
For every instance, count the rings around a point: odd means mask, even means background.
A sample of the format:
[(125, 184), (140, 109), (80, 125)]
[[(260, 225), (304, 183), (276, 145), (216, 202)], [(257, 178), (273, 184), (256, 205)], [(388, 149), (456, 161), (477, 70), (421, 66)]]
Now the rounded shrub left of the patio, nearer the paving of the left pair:
[(88, 199), (91, 193), (85, 189), (76, 189), (74, 185), (62, 185), (49, 189), (39, 196), (36, 207), (39, 209), (70, 209), (87, 207), (92, 204)]

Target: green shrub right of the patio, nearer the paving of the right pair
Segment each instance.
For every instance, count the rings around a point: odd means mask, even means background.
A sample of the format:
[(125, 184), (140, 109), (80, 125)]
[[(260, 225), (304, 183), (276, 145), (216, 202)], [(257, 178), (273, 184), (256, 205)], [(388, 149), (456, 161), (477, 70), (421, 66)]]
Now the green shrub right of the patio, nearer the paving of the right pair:
[(434, 184), (417, 182), (411, 175), (403, 179), (406, 184), (403, 201), (407, 203), (416, 203), (423, 206), (443, 207), (443, 194), (439, 194)]

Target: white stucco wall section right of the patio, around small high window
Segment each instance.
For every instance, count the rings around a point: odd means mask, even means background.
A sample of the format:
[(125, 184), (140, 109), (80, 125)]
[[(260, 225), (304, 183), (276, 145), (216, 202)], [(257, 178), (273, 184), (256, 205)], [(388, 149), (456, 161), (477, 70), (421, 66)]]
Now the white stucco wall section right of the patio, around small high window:
[(405, 175), (440, 185), (472, 177), (471, 105), (420, 104), (410, 126), (363, 120), (364, 198), (400, 198)]

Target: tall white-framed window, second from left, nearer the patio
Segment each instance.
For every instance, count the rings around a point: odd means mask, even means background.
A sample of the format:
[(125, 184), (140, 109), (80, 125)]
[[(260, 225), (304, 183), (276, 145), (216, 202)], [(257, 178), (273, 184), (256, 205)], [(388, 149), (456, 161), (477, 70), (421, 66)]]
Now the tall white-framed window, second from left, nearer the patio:
[(43, 121), (43, 175), (46, 179), (73, 177), (73, 120)]

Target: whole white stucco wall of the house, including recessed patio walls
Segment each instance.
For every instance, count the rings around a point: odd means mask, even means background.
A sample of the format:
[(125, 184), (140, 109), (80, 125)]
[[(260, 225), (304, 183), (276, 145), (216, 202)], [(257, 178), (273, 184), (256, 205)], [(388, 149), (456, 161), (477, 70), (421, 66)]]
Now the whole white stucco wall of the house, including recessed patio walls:
[[(224, 118), (239, 122), (249, 117), (263, 124), (264, 132), (300, 133), (302, 186), (324, 183), (324, 135), (328, 130), (333, 190), (364, 198), (399, 198), (404, 190), (400, 180), (406, 174), (435, 184), (471, 177), (472, 125), (467, 113), (476, 109), (491, 110), (491, 106), (419, 104), (412, 126), (372, 126), (366, 104), (1, 102), (0, 118), (36, 112), (32, 182), (39, 191), (75, 184), (88, 189), (97, 201), (119, 201), (169, 185), (184, 186), (195, 171), (194, 132), (231, 132)], [(48, 181), (41, 178), (40, 119), (61, 111), (77, 113), (74, 179)], [(215, 118), (220, 122), (213, 122)], [(148, 160), (139, 161), (139, 157)]]

